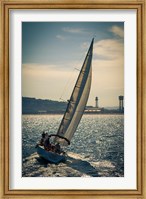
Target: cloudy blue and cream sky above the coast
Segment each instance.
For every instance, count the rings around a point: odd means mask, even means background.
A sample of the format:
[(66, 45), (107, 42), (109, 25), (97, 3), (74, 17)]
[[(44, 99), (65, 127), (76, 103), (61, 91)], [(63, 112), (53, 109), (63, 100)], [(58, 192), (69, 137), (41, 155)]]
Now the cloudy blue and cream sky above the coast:
[(23, 22), (22, 95), (67, 101), (94, 37), (87, 105), (118, 106), (124, 95), (123, 22)]

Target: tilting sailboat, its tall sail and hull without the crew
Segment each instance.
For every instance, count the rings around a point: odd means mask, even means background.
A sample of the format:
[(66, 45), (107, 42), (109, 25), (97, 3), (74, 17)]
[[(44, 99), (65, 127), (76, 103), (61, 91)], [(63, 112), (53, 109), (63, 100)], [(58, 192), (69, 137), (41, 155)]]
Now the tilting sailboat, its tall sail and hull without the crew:
[[(67, 108), (63, 115), (59, 129), (56, 134), (49, 135), (49, 138), (54, 138), (53, 143), (57, 143), (61, 146), (68, 146), (70, 144), (87, 104), (92, 79), (93, 43), (94, 38), (91, 41), (71, 97), (68, 100)], [(65, 153), (47, 151), (41, 145), (37, 145), (36, 148), (39, 156), (49, 162), (59, 163), (66, 159)]]

